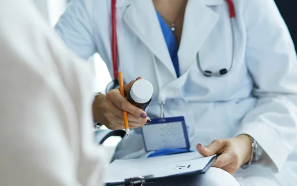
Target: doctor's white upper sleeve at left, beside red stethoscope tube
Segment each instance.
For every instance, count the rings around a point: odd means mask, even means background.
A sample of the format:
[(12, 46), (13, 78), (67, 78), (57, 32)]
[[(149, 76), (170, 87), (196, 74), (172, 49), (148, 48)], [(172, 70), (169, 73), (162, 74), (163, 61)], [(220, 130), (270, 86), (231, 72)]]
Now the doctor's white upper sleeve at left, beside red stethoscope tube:
[(54, 28), (68, 48), (85, 60), (97, 50), (91, 11), (92, 0), (71, 0)]

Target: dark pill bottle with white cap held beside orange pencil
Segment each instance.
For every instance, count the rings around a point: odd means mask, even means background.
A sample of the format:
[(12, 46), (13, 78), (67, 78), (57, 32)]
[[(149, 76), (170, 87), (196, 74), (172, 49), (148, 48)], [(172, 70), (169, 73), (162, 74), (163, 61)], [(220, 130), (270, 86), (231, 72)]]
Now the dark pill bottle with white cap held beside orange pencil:
[(127, 100), (134, 106), (147, 112), (152, 93), (153, 87), (151, 83), (146, 79), (139, 79), (130, 88)]

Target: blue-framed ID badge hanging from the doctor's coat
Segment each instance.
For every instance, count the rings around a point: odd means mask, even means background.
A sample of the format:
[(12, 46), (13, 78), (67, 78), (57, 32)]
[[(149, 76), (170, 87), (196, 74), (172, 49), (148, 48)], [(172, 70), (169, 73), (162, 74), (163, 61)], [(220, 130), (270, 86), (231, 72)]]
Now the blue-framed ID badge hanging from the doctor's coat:
[(183, 116), (152, 119), (151, 123), (141, 130), (147, 152), (159, 149), (190, 149)]

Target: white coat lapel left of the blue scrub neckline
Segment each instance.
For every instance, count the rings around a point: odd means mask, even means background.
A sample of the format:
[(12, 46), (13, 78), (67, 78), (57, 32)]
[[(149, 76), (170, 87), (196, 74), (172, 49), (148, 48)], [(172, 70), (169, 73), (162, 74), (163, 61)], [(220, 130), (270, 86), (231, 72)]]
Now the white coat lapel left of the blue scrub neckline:
[(175, 70), (151, 0), (133, 0), (123, 14), (123, 21), (176, 78)]

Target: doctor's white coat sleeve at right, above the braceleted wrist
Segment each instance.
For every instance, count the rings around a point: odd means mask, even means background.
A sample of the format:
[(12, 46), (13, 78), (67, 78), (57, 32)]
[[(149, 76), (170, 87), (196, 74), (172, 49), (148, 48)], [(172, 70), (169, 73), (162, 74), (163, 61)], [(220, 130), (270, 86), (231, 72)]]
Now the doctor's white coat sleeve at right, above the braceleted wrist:
[(252, 136), (279, 171), (297, 144), (297, 57), (274, 0), (246, 2), (246, 61), (258, 101), (236, 135)]

